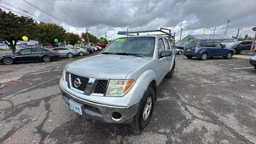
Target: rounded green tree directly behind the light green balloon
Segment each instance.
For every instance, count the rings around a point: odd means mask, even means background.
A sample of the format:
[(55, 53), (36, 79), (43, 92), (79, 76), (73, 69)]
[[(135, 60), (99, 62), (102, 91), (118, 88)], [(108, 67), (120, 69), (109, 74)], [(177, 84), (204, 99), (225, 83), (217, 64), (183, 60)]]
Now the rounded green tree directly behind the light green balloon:
[(55, 39), (57, 39), (58, 42), (63, 42), (66, 37), (66, 30), (57, 24), (40, 22), (36, 25), (36, 28), (38, 41), (40, 43), (51, 44), (55, 47)]

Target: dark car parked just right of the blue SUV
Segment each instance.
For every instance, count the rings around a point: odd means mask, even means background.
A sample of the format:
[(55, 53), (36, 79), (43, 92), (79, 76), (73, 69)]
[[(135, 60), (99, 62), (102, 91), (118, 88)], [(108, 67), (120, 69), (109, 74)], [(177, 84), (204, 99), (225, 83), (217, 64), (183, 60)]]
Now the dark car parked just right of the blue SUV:
[(252, 41), (238, 41), (226, 44), (227, 48), (233, 48), (235, 50), (234, 54), (239, 54), (241, 50), (250, 50), (251, 46)]

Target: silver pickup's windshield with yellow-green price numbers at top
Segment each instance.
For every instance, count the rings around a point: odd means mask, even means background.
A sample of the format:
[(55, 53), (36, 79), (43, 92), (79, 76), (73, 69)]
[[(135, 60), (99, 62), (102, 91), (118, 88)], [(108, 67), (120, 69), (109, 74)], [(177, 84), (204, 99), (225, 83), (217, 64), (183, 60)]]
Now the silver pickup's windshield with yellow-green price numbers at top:
[(154, 53), (154, 42), (154, 37), (118, 38), (103, 52), (130, 53), (138, 56), (152, 57)]

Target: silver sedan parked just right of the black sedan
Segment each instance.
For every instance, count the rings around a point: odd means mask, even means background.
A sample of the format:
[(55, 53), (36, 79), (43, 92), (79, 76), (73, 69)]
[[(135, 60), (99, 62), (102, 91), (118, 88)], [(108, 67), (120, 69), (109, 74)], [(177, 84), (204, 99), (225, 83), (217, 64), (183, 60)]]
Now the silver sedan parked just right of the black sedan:
[(58, 51), (58, 54), (60, 57), (73, 58), (73, 56), (78, 56), (78, 51), (73, 50), (72, 48), (57, 47), (57, 48), (53, 48), (52, 50)]

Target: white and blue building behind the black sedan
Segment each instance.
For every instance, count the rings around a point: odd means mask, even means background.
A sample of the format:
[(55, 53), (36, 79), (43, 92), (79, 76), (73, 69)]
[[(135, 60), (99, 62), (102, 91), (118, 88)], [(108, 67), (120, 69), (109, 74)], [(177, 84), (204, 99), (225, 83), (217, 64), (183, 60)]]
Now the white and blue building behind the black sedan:
[[(28, 40), (28, 41), (20, 40), (16, 44), (16, 50), (19, 50), (22, 48), (29, 48), (29, 47), (40, 47), (40, 45), (37, 40)], [(0, 49), (10, 50), (9, 46), (4, 43), (0, 43)]]

